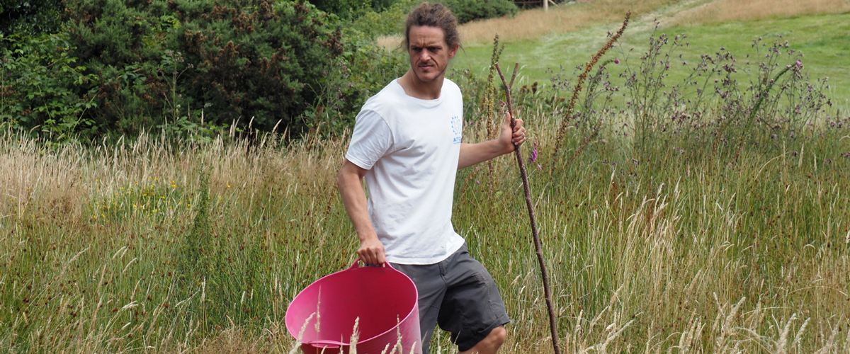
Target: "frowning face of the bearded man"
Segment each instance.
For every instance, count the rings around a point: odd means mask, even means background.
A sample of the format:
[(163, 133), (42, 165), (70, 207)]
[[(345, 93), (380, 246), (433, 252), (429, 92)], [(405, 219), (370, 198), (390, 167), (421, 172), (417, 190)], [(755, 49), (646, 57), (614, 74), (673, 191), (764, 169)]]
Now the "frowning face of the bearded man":
[(457, 46), (449, 48), (439, 27), (414, 25), (408, 36), (407, 53), (411, 55), (411, 70), (419, 81), (430, 82), (441, 77), (449, 59), (457, 53)]

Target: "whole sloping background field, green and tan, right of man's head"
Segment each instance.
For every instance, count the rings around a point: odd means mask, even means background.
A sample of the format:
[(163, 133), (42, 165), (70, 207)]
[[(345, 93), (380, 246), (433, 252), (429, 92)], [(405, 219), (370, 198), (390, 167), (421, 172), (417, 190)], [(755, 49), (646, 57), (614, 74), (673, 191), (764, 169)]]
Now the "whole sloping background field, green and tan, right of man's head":
[[(654, 2), (646, 2), (653, 4)], [(738, 59), (739, 65), (748, 70), (757, 70), (756, 61), (752, 59), (756, 50), (752, 48), (752, 40), (762, 37), (765, 42), (773, 42), (777, 36), (782, 36), (782, 41), (788, 41), (791, 48), (801, 51), (805, 57), (802, 63), (806, 65), (812, 80), (829, 77), (830, 88), (833, 89), (831, 97), (844, 107), (850, 105), (850, 4), (842, 1), (821, 2), (830, 6), (817, 7), (817, 3), (809, 4), (809, 7), (800, 8), (799, 5), (791, 6), (787, 2), (779, 0), (773, 2), (762, 1), (758, 8), (736, 8), (740, 11), (751, 11), (732, 14), (716, 14), (711, 11), (717, 6), (725, 6), (724, 2), (680, 2), (680, 3), (655, 2), (655, 8), (639, 8), (642, 12), (636, 12), (632, 24), (626, 30), (626, 34), (620, 44), (609, 51), (605, 58), (626, 58), (627, 56), (639, 57), (649, 46), (649, 36), (655, 31), (654, 20), (658, 20), (660, 26), (656, 36), (666, 33), (670, 37), (686, 34), (688, 46), (678, 48), (677, 53), (682, 54), (682, 60), (689, 65), (677, 65), (671, 71), (669, 82), (682, 81), (689, 73), (689, 67), (700, 61), (700, 54), (721, 52), (721, 48), (731, 52)], [(726, 2), (728, 3), (728, 2)], [(759, 2), (756, 2), (759, 3)], [(563, 21), (574, 20), (568, 14), (559, 13), (581, 13), (590, 12), (590, 8), (608, 8), (605, 20), (614, 17), (615, 11), (620, 11), (619, 20), (609, 20), (600, 25), (598, 22), (575, 25), (577, 28), (558, 28), (554, 24), (547, 24), (560, 31), (544, 31), (531, 34), (526, 37), (512, 36), (514, 26), (506, 25), (499, 28), (495, 25), (472, 24), (467, 27), (474, 28), (467, 37), (462, 37), (464, 48), (456, 59), (453, 68), (456, 70), (469, 69), (479, 74), (486, 75), (490, 65), (490, 53), (492, 52), (492, 39), (499, 33), (501, 42), (505, 43), (502, 54), (502, 63), (513, 64), (519, 62), (523, 70), (519, 76), (519, 82), (530, 85), (534, 81), (540, 84), (551, 85), (554, 73), (564, 68), (564, 76), (575, 76), (575, 66), (583, 65), (596, 53), (604, 42), (607, 41), (606, 33), (615, 31), (620, 27), (622, 16), (630, 9), (624, 4), (612, 5), (604, 2), (579, 3), (561, 8), (552, 8), (549, 13), (535, 10), (530, 19), (520, 18), (518, 21), (530, 22), (536, 19), (546, 22), (547, 18)], [(700, 6), (701, 5), (701, 6)], [(644, 6), (647, 6), (644, 4)], [(583, 9), (582, 7), (588, 8)], [(582, 8), (582, 9), (580, 9)], [(761, 11), (764, 8), (793, 10), (791, 14), (781, 12), (771, 14), (770, 11)], [(810, 14), (819, 10), (821, 12), (833, 12), (833, 14)], [(601, 11), (601, 10), (599, 10)], [(694, 19), (704, 15), (704, 18)], [(519, 16), (518, 16), (519, 17)], [(597, 17), (603, 17), (598, 15)], [(595, 20), (596, 17), (593, 17)], [(492, 21), (492, 20), (491, 20)], [(588, 20), (589, 21), (589, 20)], [(523, 24), (519, 24), (523, 25)], [(570, 31), (572, 30), (572, 31)], [(388, 42), (388, 39), (385, 40)], [(631, 53), (630, 53), (631, 51)], [(750, 54), (750, 58), (747, 58)], [(747, 65), (746, 62), (751, 64)], [(791, 61), (789, 64), (794, 63)], [(609, 70), (617, 76), (622, 72), (621, 67), (609, 65)], [(739, 75), (740, 82), (748, 73), (742, 70)]]

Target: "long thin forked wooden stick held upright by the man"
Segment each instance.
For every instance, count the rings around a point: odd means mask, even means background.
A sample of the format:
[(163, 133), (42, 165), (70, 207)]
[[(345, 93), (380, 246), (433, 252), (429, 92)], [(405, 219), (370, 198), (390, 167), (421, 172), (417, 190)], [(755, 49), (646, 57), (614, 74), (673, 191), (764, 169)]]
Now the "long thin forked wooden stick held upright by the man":
[[(505, 98), (507, 98), (507, 112), (511, 114), (511, 131), (513, 126), (516, 126), (516, 115), (513, 114), (513, 103), (511, 102), (511, 87), (513, 87), (513, 79), (517, 77), (519, 63), (513, 65), (513, 75), (511, 83), (505, 81), (505, 76), (501, 74), (499, 63), (496, 63), (496, 71), (499, 71), (501, 83), (505, 85)], [(552, 289), (549, 289), (549, 276), (546, 273), (546, 263), (543, 261), (543, 250), (541, 250), (540, 237), (537, 235), (537, 220), (534, 217), (534, 206), (531, 205), (531, 191), (529, 189), (529, 176), (525, 172), (525, 161), (523, 154), (519, 151), (519, 145), (513, 145), (513, 152), (517, 155), (517, 163), (519, 164), (519, 174), (523, 177), (523, 189), (525, 190), (525, 205), (529, 208), (529, 219), (531, 220), (531, 234), (534, 236), (534, 248), (537, 251), (537, 261), (540, 262), (540, 273), (543, 275), (543, 294), (546, 295), (546, 307), (549, 310), (549, 327), (552, 329), (552, 346), (555, 354), (561, 354), (561, 348), (558, 346), (558, 323), (555, 323), (555, 309), (552, 305)]]

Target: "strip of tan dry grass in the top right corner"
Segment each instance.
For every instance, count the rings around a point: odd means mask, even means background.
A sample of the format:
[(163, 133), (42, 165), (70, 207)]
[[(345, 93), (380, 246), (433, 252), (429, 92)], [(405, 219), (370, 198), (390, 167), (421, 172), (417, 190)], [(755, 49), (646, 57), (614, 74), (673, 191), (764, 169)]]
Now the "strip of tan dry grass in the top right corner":
[(843, 14), (848, 11), (850, 11), (850, 2), (847, 0), (715, 0), (675, 14), (672, 23), (701, 25), (810, 14)]

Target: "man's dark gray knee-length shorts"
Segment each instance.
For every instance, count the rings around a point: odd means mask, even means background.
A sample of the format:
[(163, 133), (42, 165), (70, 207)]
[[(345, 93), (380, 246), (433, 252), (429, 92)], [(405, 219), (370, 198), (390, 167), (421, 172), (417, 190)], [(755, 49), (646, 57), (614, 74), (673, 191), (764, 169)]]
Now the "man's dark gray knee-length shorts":
[(511, 321), (496, 282), (469, 256), (466, 244), (439, 263), (392, 265), (413, 279), (419, 291), (423, 354), (428, 354), (435, 323), (450, 332), (460, 351), (468, 351), (491, 330)]

